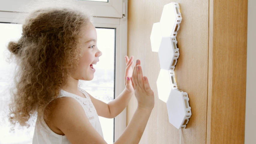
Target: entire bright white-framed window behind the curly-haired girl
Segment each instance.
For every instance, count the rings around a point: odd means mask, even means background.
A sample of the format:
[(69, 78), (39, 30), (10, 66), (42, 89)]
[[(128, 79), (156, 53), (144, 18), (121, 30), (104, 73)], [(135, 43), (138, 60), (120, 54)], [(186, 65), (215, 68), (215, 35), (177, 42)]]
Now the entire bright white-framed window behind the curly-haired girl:
[[(5, 58), (3, 58), (3, 51), (6, 51), (6, 45), (7, 42), (10, 40), (17, 40), (21, 36), (21, 30), (20, 25), (17, 24), (10, 24), (10, 22), (14, 22), (15, 19), (15, 12), (18, 11), (19, 7), (23, 4), (27, 4), (30, 0), (0, 0), (0, 74), (5, 75), (11, 75), (11, 68), (14, 67), (14, 65), (9, 64), (5, 61)], [(103, 2), (105, 1), (105, 2)], [(127, 0), (123, 0), (126, 3), (125, 13), (127, 13)], [(106, 82), (111, 83), (111, 85), (106, 88), (104, 87), (104, 84), (101, 88), (98, 88), (98, 90), (105, 89), (106, 93), (97, 94), (93, 88), (94, 82), (99, 79), (100, 76), (95, 76), (95, 79), (92, 81), (86, 81), (83, 82), (82, 88), (84, 88), (88, 93), (90, 93), (92, 96), (99, 98), (100, 100), (104, 102), (108, 102), (107, 100), (112, 100), (124, 90), (124, 73), (125, 73), (125, 58), (124, 56), (127, 55), (127, 19), (122, 19), (122, 0), (77, 0), (78, 3), (83, 5), (85, 8), (89, 8), (94, 11), (95, 20), (93, 22), (94, 26), (96, 27), (97, 34), (98, 34), (98, 47), (103, 52), (103, 55), (99, 58), (100, 61), (95, 66), (96, 72), (95, 75), (98, 75), (97, 72), (100, 72), (101, 70), (101, 63), (103, 63), (106, 59), (104, 56), (107, 55), (107, 52), (104, 52), (103, 49), (112, 48), (109, 51), (112, 53), (112, 68), (108, 67), (106, 70), (104, 70), (104, 73), (109, 74), (109, 76), (106, 77)], [(2, 29), (7, 30), (8, 33), (4, 33)], [(112, 45), (104, 44), (103, 46), (100, 46), (100, 39), (101, 35), (99, 33), (102, 32), (102, 37), (104, 35), (108, 35), (104, 38), (114, 38), (114, 40), (111, 41)], [(3, 37), (3, 38), (2, 38)], [(113, 41), (113, 42), (112, 42)], [(4, 44), (2, 44), (4, 43)], [(114, 45), (113, 45), (114, 44)], [(9, 72), (10, 71), (10, 72)], [(106, 72), (105, 72), (106, 71)], [(114, 77), (114, 79), (113, 79)], [(112, 82), (110, 81), (112, 79)], [(8, 101), (8, 95), (3, 94), (5, 92), (6, 88), (8, 88), (8, 84), (6, 81), (12, 80), (10, 77), (8, 79), (8, 76), (0, 77), (0, 119), (2, 117), (6, 116), (6, 113), (4, 113), (4, 109), (6, 108), (6, 102)], [(102, 82), (102, 81), (101, 81)], [(88, 85), (91, 85), (91, 88), (88, 88)], [(88, 88), (88, 89), (87, 89)], [(97, 89), (97, 88), (96, 88)], [(3, 97), (5, 95), (5, 97)], [(5, 119), (6, 121), (7, 119)], [(102, 130), (103, 133), (106, 131), (110, 134), (110, 136), (107, 136), (104, 134), (104, 139), (107, 141), (107, 143), (113, 143), (113, 137), (114, 141), (116, 141), (122, 132), (126, 128), (126, 109), (120, 113), (115, 119), (105, 119), (100, 118)], [(104, 126), (104, 122), (107, 123), (107, 126)], [(114, 121), (114, 122), (113, 122)], [(9, 127), (7, 125), (2, 125), (2, 121), (0, 120), (0, 143), (31, 143), (31, 138), (33, 136), (34, 128), (26, 129), (24, 130), (15, 130), (14, 133), (9, 133)], [(112, 123), (112, 124), (111, 124)], [(111, 128), (110, 128), (111, 127)], [(105, 131), (105, 132), (104, 132)], [(112, 135), (113, 134), (113, 135)], [(9, 137), (8, 137), (9, 135)], [(17, 139), (16, 139), (17, 136)], [(14, 141), (15, 139), (17, 141)], [(20, 139), (18, 139), (20, 138)]]

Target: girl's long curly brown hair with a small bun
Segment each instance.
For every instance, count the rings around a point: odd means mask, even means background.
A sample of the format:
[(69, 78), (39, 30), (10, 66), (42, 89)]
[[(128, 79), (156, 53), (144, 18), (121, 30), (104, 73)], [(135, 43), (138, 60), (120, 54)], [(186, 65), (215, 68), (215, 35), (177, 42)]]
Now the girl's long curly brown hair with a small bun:
[(8, 44), (17, 63), (8, 119), (29, 127), (78, 66), (81, 29), (92, 15), (70, 0), (36, 0), (23, 8), (22, 36)]

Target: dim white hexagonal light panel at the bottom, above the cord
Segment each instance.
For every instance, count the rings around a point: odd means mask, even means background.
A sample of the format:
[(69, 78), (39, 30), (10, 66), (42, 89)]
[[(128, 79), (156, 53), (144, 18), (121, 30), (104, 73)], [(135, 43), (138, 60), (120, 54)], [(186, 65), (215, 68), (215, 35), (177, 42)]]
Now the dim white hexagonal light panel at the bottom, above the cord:
[(169, 122), (177, 129), (186, 128), (191, 117), (191, 107), (189, 107), (188, 101), (188, 93), (179, 89), (171, 90), (166, 105)]

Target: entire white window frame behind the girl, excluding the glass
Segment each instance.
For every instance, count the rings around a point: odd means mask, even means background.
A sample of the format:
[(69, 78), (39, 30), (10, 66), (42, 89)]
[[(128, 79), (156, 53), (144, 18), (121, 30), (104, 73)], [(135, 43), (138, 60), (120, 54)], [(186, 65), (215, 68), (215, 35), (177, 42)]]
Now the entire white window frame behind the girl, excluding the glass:
[[(15, 2), (14, 2), (15, 1)], [(121, 1), (121, 5), (120, 5)], [(15, 22), (16, 10), (19, 5), (29, 2), (29, 0), (0, 0), (0, 22)], [(94, 17), (94, 26), (101, 28), (116, 29), (116, 65), (115, 65), (115, 98), (124, 90), (124, 74), (125, 74), (125, 55), (127, 55), (127, 18), (123, 19), (123, 14), (127, 17), (128, 0), (109, 0), (109, 2), (83, 1), (84, 4), (93, 4), (96, 7), (96, 17)], [(125, 10), (123, 9), (125, 2)], [(103, 4), (104, 3), (104, 4)], [(8, 6), (10, 5), (10, 7)], [(93, 6), (93, 7), (94, 7)], [(114, 10), (110, 10), (114, 8)], [(116, 8), (118, 7), (118, 8)], [(120, 10), (121, 7), (121, 10)], [(110, 10), (110, 11), (108, 11)], [(121, 14), (120, 14), (121, 11)], [(101, 17), (99, 17), (101, 16)], [(114, 141), (116, 141), (126, 128), (126, 108), (115, 118), (114, 125)]]

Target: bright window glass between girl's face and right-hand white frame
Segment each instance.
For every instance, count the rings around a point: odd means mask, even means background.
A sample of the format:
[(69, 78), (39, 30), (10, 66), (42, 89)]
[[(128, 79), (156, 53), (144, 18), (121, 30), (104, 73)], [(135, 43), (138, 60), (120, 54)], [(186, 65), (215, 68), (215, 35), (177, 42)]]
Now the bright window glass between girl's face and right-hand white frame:
[[(83, 88), (94, 98), (105, 103), (114, 99), (114, 54), (115, 54), (115, 29), (96, 28), (97, 47), (102, 52), (95, 68), (94, 78), (91, 81), (81, 81)], [(113, 144), (114, 119), (99, 117), (104, 139), (108, 144)]]

